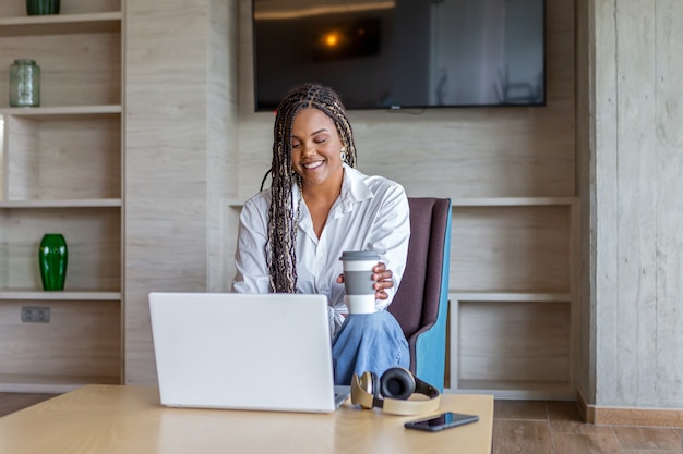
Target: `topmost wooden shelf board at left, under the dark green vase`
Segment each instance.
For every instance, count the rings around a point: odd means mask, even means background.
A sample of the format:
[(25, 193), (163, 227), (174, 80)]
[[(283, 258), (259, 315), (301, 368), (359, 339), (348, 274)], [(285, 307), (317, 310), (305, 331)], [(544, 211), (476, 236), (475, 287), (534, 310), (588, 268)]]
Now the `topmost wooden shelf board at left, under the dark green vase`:
[(0, 19), (0, 36), (120, 33), (121, 12)]

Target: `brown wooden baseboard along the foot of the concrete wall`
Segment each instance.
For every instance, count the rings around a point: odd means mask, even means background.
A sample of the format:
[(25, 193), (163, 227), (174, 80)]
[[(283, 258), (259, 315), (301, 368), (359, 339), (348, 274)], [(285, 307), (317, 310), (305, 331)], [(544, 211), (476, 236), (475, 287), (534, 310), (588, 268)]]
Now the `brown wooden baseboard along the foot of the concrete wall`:
[(576, 402), (584, 421), (588, 424), (601, 426), (683, 427), (683, 409), (588, 405), (580, 390), (576, 392)]

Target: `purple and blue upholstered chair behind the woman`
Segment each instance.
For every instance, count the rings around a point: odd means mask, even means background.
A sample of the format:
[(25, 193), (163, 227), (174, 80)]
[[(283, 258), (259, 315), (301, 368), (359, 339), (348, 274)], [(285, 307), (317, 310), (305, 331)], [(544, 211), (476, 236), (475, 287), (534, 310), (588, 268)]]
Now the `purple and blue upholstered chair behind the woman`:
[(410, 241), (388, 311), (410, 347), (410, 371), (443, 391), (451, 259), (451, 199), (408, 197)]

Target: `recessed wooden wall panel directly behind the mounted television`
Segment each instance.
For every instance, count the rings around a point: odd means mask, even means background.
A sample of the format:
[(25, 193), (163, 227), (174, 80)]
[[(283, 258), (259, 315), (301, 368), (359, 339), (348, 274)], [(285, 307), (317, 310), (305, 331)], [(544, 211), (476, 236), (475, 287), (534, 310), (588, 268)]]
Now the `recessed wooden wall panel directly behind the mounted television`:
[[(269, 167), (274, 116), (253, 112), (251, 2), (240, 3), (240, 196), (248, 197)], [(548, 0), (547, 26), (547, 107), (351, 111), (360, 170), (414, 196), (573, 196), (573, 0)]]

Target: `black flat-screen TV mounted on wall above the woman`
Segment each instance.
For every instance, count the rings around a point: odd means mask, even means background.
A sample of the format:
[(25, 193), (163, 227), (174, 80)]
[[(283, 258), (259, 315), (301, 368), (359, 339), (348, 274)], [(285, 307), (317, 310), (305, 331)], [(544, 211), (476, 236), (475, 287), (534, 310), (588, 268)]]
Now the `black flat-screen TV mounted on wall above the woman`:
[(317, 82), (347, 109), (543, 106), (544, 0), (253, 0), (255, 109)]

